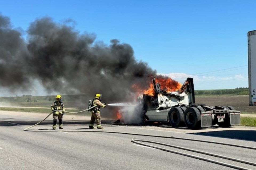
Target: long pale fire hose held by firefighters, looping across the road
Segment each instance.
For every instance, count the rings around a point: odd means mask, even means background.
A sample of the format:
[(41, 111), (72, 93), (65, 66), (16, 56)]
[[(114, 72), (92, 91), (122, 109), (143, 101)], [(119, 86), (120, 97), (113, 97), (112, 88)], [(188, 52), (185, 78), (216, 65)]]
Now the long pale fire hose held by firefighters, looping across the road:
[[(88, 111), (92, 108), (94, 108), (96, 106), (93, 106), (89, 109), (86, 109), (86, 110), (83, 110), (83, 111), (80, 111), (80, 112), (67, 112), (67, 113), (81, 113), (81, 112), (85, 112), (85, 111)], [(55, 111), (62, 111), (62, 110), (55, 110)], [(139, 136), (149, 136), (149, 137), (160, 137), (160, 138), (172, 138), (172, 139), (181, 139), (181, 140), (189, 140), (189, 141), (198, 141), (198, 142), (207, 142), (207, 143), (215, 143), (215, 144), (221, 144), (221, 145), (228, 145), (228, 146), (235, 146), (235, 147), (242, 147), (242, 148), (248, 148), (248, 149), (253, 149), (253, 150), (256, 150), (256, 147), (249, 147), (249, 146), (243, 146), (243, 145), (233, 145), (233, 144), (230, 144), (230, 143), (221, 143), (221, 142), (213, 142), (213, 141), (205, 141), (205, 140), (200, 140), (200, 139), (189, 139), (189, 138), (178, 138), (178, 137), (173, 137), (173, 136), (157, 136), (157, 135), (147, 135), (147, 134), (136, 134), (136, 133), (127, 133), (127, 132), (116, 132), (116, 131), (95, 131), (95, 130), (28, 130), (38, 124), (40, 124), (41, 122), (43, 122), (44, 120), (46, 120), (46, 118), (48, 118), (53, 112), (51, 112), (48, 116), (46, 116), (42, 121), (28, 127), (28, 128), (25, 128), (23, 130), (25, 131), (84, 131), (84, 132), (101, 132), (101, 133), (118, 133), (118, 134), (129, 134), (129, 135), (139, 135)], [(203, 152), (203, 151), (198, 151), (198, 150), (193, 150), (193, 149), (189, 149), (189, 148), (185, 148), (185, 147), (179, 147), (179, 146), (174, 146), (174, 145), (169, 145), (169, 144), (165, 144), (165, 143), (160, 143), (160, 142), (154, 142), (154, 141), (148, 141), (148, 140), (141, 140), (141, 139), (131, 139), (131, 142), (133, 143), (137, 143), (139, 145), (144, 145), (144, 146), (147, 146), (147, 147), (152, 147), (152, 148), (156, 148), (156, 149), (159, 149), (159, 150), (163, 150), (163, 151), (167, 151), (167, 152), (171, 152), (171, 153), (175, 153), (175, 154), (179, 154), (179, 155), (183, 155), (183, 156), (188, 156), (188, 157), (191, 157), (191, 158), (196, 158), (196, 159), (200, 159), (200, 160), (204, 160), (204, 161), (207, 161), (207, 162), (211, 162), (211, 163), (215, 163), (215, 164), (219, 164), (219, 165), (223, 165), (223, 166), (226, 166), (226, 167), (231, 167), (231, 168), (235, 168), (235, 169), (242, 169), (242, 170), (251, 170), (251, 169), (248, 169), (248, 168), (243, 168), (243, 167), (239, 167), (239, 166), (236, 166), (236, 165), (231, 165), (231, 164), (227, 164), (227, 163), (223, 163), (223, 162), (219, 162), (219, 161), (215, 161), (215, 160), (212, 160), (212, 159), (206, 159), (206, 158), (203, 158), (203, 157), (200, 157), (200, 156), (195, 156), (195, 155), (190, 155), (190, 154), (185, 154), (185, 153), (182, 153), (182, 152), (177, 152), (177, 151), (172, 151), (172, 150), (169, 150), (169, 149), (165, 149), (165, 148), (161, 148), (161, 147), (157, 147), (157, 146), (153, 146), (153, 145), (148, 145), (148, 144), (145, 144), (145, 143), (142, 143), (142, 142), (148, 142), (148, 143), (155, 143), (155, 144), (159, 144), (159, 145), (164, 145), (164, 146), (169, 146), (169, 147), (174, 147), (174, 148), (179, 148), (179, 149), (183, 149), (183, 150), (188, 150), (188, 151), (193, 151), (193, 152), (197, 152), (197, 153), (201, 153), (201, 154), (206, 154), (206, 155), (210, 155), (210, 156), (215, 156), (215, 157), (219, 157), (219, 158), (224, 158), (224, 159), (228, 159), (228, 160), (233, 160), (233, 161), (236, 161), (236, 162), (241, 162), (241, 163), (245, 163), (245, 164), (249, 164), (249, 165), (254, 165), (256, 166), (256, 163), (253, 163), (253, 162), (249, 162), (249, 161), (245, 161), (245, 160), (240, 160), (240, 159), (236, 159), (236, 158), (230, 158), (230, 157), (227, 157), (227, 156), (222, 156), (222, 155), (217, 155), (217, 154), (211, 154), (209, 152)]]

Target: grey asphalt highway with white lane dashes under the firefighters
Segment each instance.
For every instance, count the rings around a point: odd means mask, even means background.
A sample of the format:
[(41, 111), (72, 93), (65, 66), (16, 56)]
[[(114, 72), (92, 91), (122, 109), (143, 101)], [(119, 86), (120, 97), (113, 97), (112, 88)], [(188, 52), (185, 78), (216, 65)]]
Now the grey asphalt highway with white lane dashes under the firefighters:
[[(114, 120), (103, 118), (102, 125), (104, 129), (89, 129), (90, 117), (64, 115), (63, 131), (51, 130), (51, 116), (41, 124), (28, 129), (34, 131), (24, 130), (41, 121), (47, 115), (43, 113), (0, 111), (0, 170), (235, 169), (139, 145), (131, 142), (131, 139), (156, 141), (256, 162), (256, 150), (253, 149), (167, 138), (200, 139), (256, 148), (256, 128), (236, 126), (189, 130), (186, 128), (171, 128), (170, 126), (111, 125)], [(143, 134), (159, 137), (144, 136)], [(163, 136), (166, 138), (163, 138)], [(169, 146), (147, 144), (232, 164), (245, 169), (256, 169), (254, 165), (215, 158)]]

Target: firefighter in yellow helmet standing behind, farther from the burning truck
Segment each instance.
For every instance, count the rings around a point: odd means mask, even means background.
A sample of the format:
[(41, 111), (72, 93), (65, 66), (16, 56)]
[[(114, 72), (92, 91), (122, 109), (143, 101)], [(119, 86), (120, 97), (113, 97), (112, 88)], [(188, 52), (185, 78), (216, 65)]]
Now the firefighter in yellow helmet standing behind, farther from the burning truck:
[[(64, 105), (61, 101), (61, 95), (55, 97), (56, 101), (51, 105), (51, 110), (53, 111), (53, 129), (57, 127), (57, 119), (59, 120), (59, 129), (63, 129), (62, 117), (65, 111)], [(56, 111), (62, 110), (62, 111)]]

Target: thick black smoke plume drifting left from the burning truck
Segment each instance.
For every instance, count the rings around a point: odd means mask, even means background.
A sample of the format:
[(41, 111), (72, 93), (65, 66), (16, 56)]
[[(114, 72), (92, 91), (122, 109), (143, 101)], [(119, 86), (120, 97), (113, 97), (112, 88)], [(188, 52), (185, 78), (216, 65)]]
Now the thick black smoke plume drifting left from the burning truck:
[(12, 92), (29, 90), (38, 80), (48, 93), (89, 98), (101, 93), (108, 102), (134, 97), (133, 84), (149, 87), (156, 71), (137, 61), (129, 44), (95, 40), (94, 34), (48, 17), (32, 22), (24, 40), (10, 19), (0, 15), (0, 86)]

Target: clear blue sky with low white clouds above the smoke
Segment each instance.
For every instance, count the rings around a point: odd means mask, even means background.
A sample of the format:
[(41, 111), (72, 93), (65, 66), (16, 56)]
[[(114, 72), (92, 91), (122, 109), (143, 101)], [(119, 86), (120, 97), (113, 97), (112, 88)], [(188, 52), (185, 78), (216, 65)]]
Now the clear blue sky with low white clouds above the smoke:
[[(256, 29), (255, 1), (0, 0), (0, 14), (14, 28), (35, 19), (74, 20), (97, 41), (118, 39), (135, 58), (195, 90), (248, 87), (247, 32)], [(25, 35), (24, 35), (25, 36)]]

